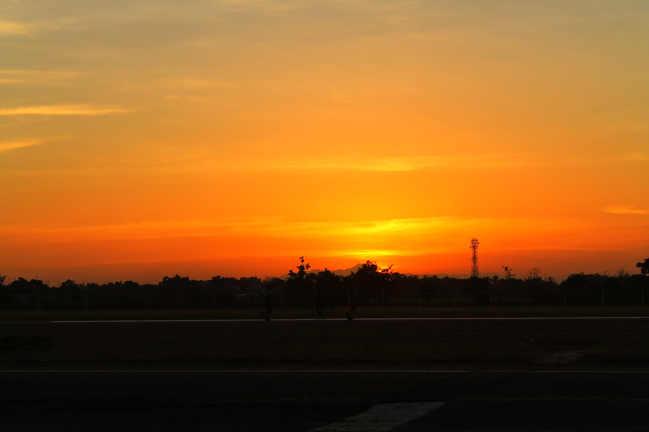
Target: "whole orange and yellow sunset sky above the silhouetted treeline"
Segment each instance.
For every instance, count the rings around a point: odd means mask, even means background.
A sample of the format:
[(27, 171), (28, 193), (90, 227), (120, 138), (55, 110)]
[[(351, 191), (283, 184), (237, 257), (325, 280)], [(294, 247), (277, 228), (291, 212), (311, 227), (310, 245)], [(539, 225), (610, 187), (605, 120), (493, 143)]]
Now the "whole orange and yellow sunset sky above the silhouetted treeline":
[(646, 1), (0, 3), (0, 271), (649, 256)]

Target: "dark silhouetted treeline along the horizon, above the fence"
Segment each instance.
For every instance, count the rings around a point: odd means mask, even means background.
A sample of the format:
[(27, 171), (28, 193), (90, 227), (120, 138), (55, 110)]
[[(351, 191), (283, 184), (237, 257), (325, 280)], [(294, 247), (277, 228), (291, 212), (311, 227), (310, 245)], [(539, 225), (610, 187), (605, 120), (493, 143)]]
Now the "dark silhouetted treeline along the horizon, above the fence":
[(66, 280), (60, 287), (49, 287), (38, 279), (18, 278), (5, 284), (6, 277), (0, 276), (0, 294), (90, 294), (90, 293), (201, 293), (231, 292), (244, 293), (262, 291), (266, 287), (273, 291), (347, 291), (347, 290), (382, 290), (386, 293), (476, 293), (476, 292), (522, 292), (522, 291), (622, 291), (649, 290), (649, 258), (638, 266), (642, 274), (630, 275), (624, 269), (611, 275), (573, 273), (560, 283), (552, 277), (540, 276), (538, 267), (530, 269), (522, 278), (517, 278), (509, 267), (503, 267), (505, 277), (471, 277), (457, 279), (453, 277), (402, 275), (392, 271), (391, 267), (380, 268), (376, 262), (367, 261), (358, 271), (348, 276), (336, 275), (328, 269), (317, 273), (308, 271), (309, 264), (304, 264), (300, 257), (297, 271), (290, 270), (284, 278), (215, 276), (209, 280), (195, 280), (189, 277), (164, 277), (158, 284), (138, 284), (126, 282), (94, 282), (77, 284)]

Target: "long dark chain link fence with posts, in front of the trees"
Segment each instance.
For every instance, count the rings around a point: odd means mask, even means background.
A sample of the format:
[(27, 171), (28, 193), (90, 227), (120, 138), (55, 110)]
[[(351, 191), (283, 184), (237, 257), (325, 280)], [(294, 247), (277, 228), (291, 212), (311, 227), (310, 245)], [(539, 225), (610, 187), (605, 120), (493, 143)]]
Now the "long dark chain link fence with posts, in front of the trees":
[[(326, 305), (349, 306), (348, 291), (322, 291)], [(515, 291), (478, 293), (386, 293), (356, 291), (359, 308), (467, 306), (644, 306), (644, 291)], [(274, 293), (280, 309), (313, 306), (315, 291)], [(256, 309), (265, 307), (263, 292), (9, 294), (0, 310), (170, 310)]]

